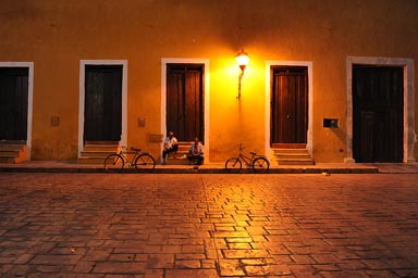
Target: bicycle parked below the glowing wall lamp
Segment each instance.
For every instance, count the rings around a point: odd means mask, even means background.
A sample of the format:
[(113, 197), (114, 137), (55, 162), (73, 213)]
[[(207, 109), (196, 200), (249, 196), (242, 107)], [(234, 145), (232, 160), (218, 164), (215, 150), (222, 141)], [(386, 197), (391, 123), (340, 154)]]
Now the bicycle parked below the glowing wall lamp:
[(256, 152), (250, 152), (251, 156), (243, 154), (244, 147), (239, 144), (239, 153), (237, 156), (230, 157), (225, 162), (225, 170), (228, 173), (239, 173), (243, 167), (243, 162), (247, 167), (251, 167), (255, 173), (267, 173), (270, 168), (270, 162), (265, 155), (259, 155)]

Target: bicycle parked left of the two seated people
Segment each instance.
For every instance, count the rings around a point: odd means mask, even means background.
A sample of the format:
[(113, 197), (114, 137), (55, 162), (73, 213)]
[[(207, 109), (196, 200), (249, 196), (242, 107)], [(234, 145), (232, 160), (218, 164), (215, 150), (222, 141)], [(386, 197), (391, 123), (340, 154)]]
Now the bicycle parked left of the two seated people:
[[(132, 159), (130, 160), (127, 155), (132, 155)], [(109, 154), (104, 159), (104, 172), (121, 173), (125, 164), (137, 170), (151, 173), (156, 167), (156, 159), (140, 149), (131, 148), (130, 151), (126, 147), (122, 147), (118, 153)]]

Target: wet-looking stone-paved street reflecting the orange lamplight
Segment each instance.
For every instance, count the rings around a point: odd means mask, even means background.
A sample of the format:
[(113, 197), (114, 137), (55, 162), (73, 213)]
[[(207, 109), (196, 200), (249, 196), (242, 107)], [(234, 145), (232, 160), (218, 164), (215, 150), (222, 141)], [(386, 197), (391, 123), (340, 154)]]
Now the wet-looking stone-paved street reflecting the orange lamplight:
[(418, 277), (418, 174), (0, 173), (0, 277)]

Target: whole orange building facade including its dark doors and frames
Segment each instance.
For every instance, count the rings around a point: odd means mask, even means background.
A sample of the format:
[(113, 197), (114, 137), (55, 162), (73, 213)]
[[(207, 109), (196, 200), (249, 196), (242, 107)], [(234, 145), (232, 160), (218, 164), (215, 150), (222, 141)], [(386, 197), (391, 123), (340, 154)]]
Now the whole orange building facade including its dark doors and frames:
[(159, 157), (169, 130), (199, 137), (207, 162), (241, 143), (271, 161), (276, 149), (418, 157), (415, 0), (0, 5), (0, 140), (23, 143), (26, 160), (77, 160), (103, 142)]

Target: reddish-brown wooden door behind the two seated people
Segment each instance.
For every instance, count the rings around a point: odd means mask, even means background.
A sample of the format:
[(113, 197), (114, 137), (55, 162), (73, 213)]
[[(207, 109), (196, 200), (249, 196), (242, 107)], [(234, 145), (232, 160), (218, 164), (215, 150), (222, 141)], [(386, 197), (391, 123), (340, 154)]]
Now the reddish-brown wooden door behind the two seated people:
[(205, 139), (204, 65), (167, 65), (167, 131), (179, 141)]

